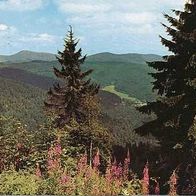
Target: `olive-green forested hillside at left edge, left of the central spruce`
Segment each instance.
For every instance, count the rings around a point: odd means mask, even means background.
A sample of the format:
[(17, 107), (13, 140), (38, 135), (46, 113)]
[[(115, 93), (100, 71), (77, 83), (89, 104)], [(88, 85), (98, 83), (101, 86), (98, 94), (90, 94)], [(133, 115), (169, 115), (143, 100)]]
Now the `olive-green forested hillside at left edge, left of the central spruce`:
[(45, 91), (0, 77), (0, 112), (34, 130), (46, 121), (43, 114)]

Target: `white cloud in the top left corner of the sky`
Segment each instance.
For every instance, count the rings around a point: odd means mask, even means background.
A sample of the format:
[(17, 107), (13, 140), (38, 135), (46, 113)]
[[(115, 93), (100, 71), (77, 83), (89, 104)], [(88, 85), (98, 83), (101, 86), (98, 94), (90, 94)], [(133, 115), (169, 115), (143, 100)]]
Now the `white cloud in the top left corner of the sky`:
[(37, 10), (43, 5), (43, 0), (1, 0), (0, 10), (29, 11)]

